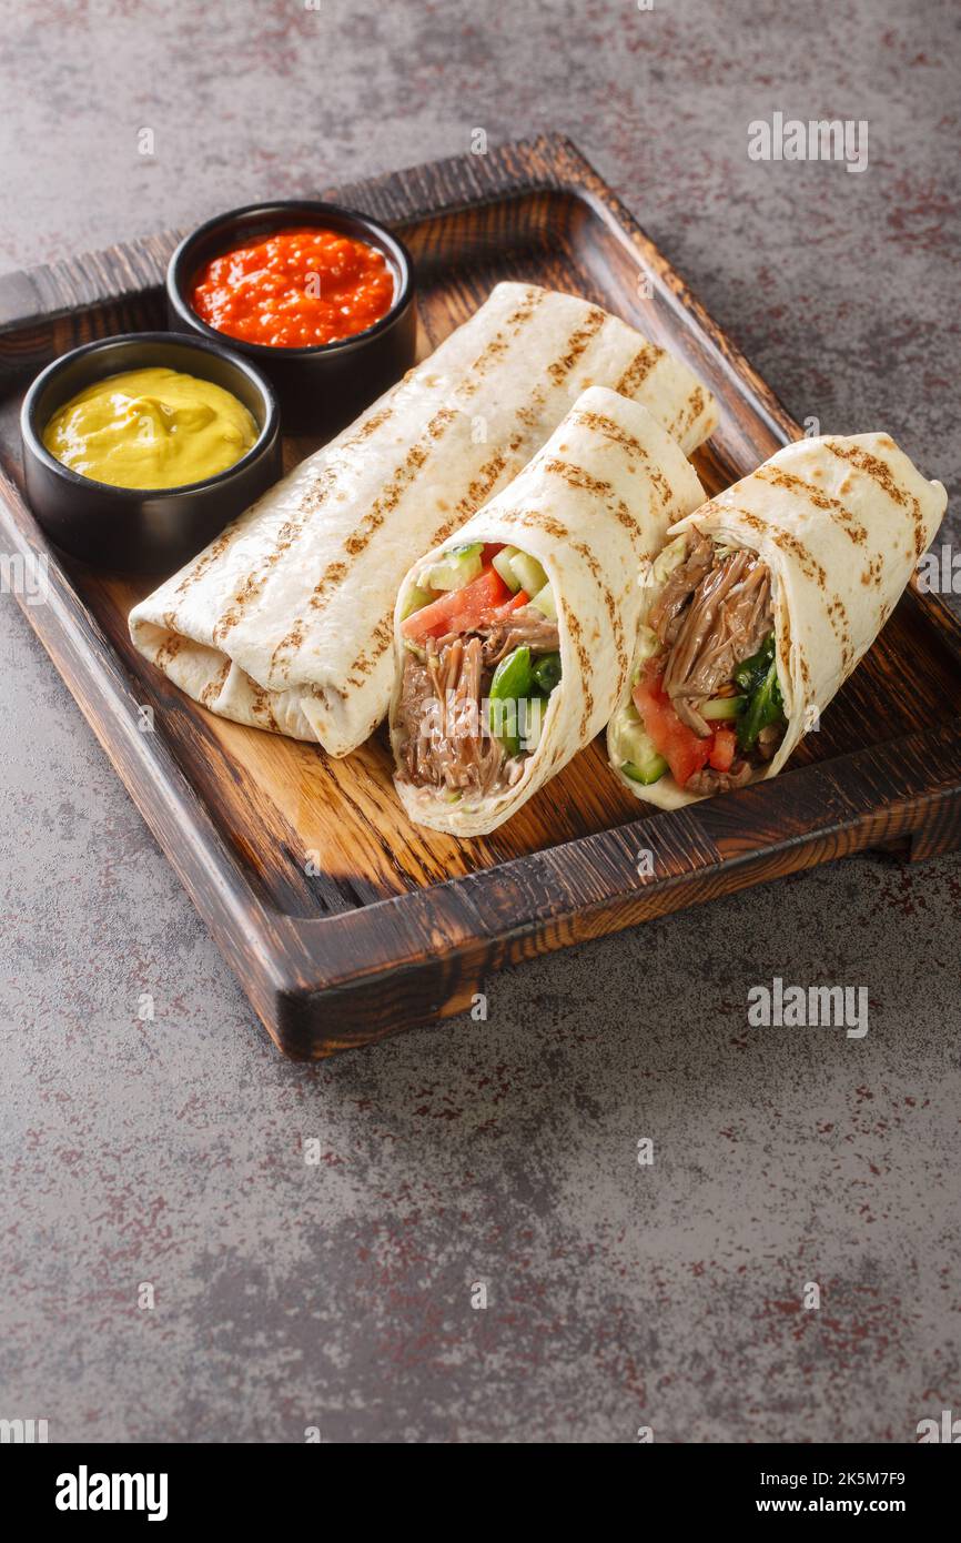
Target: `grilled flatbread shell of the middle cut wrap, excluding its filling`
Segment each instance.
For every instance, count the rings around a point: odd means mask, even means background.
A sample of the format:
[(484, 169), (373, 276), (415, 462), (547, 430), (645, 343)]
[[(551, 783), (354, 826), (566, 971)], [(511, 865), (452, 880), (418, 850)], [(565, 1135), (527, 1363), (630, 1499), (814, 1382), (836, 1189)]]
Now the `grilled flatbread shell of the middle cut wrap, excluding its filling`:
[[(509, 819), (605, 727), (631, 668), (640, 616), (639, 576), (673, 520), (696, 509), (703, 489), (680, 446), (642, 403), (594, 386), (534, 460), (457, 534), (458, 545), (501, 542), (535, 557), (551, 580), (561, 677), (551, 693), (537, 750), (514, 787), (487, 798), (420, 788), (395, 776), (412, 821), (455, 836), (487, 835)], [(443, 551), (406, 576), (395, 609), (396, 671), (390, 742), (401, 753), (396, 708), (409, 591)]]

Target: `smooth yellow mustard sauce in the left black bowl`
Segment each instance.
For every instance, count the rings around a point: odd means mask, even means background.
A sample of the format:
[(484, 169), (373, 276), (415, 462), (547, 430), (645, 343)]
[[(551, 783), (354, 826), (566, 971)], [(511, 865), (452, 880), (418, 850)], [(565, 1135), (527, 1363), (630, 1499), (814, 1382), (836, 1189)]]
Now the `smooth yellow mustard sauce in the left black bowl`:
[(113, 488), (184, 488), (234, 466), (258, 427), (238, 398), (177, 370), (123, 370), (79, 392), (43, 430), (63, 466)]

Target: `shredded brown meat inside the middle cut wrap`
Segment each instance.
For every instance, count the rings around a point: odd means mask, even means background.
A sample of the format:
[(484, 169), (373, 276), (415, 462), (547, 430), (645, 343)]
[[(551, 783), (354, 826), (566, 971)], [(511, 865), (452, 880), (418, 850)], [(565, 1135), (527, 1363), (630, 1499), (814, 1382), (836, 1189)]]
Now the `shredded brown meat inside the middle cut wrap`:
[(396, 725), (409, 782), (481, 798), (517, 782), (523, 758), (506, 756), (487, 733), (481, 704), (500, 660), (523, 645), (557, 651), (557, 622), (521, 606), (474, 633), (427, 639), (423, 660), (406, 651)]

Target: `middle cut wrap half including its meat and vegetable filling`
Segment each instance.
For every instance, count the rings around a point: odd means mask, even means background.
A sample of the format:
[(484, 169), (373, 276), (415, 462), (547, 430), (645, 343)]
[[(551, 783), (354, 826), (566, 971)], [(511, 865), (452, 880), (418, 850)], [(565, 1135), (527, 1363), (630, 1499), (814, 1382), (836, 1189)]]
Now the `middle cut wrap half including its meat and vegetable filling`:
[[(591, 742), (628, 680), (640, 572), (702, 498), (648, 409), (594, 386), (503, 492), (413, 565), (390, 707), (410, 819), (486, 835)], [(458, 565), (470, 582), (446, 588)]]

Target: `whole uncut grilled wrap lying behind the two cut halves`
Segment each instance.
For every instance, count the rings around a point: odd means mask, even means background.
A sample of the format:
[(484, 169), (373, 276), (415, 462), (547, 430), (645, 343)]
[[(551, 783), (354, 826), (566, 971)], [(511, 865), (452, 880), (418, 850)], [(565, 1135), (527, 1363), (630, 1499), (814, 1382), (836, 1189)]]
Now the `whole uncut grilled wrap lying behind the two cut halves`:
[(387, 711), (396, 589), (503, 488), (592, 384), (693, 451), (696, 376), (572, 295), (498, 284), (437, 352), (136, 605), (140, 653), (239, 724), (356, 748)]

